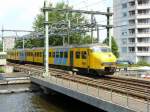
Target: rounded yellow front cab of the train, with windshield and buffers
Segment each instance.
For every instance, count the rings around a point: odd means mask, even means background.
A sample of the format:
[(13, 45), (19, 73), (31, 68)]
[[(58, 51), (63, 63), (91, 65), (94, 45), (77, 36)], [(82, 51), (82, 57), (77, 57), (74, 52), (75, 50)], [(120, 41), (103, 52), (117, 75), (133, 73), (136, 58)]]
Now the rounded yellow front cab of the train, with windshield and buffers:
[(108, 47), (96, 46), (89, 52), (90, 69), (99, 75), (112, 75), (116, 70), (116, 57)]

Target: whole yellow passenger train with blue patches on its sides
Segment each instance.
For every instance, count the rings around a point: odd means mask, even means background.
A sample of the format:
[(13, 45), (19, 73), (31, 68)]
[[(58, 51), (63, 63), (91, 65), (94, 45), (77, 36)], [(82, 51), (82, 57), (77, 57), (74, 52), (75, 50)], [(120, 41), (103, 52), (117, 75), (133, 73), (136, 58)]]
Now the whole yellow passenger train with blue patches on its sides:
[[(44, 48), (15, 49), (7, 52), (7, 60), (20, 63), (44, 63)], [(100, 75), (112, 75), (116, 70), (116, 57), (102, 44), (57, 46), (49, 48), (49, 65)]]

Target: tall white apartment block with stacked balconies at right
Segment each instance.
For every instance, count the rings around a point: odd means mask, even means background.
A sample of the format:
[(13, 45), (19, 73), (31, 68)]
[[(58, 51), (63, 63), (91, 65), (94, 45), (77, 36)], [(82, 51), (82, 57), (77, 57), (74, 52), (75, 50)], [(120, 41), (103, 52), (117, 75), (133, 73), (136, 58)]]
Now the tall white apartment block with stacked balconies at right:
[(120, 59), (150, 63), (150, 0), (113, 0)]

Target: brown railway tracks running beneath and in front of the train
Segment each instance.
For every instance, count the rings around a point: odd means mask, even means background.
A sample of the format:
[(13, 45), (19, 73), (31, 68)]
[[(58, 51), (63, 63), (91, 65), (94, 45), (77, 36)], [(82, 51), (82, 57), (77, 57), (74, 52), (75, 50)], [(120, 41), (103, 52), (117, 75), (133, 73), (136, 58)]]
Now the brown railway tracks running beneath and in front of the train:
[[(15, 67), (22, 68), (27, 71), (35, 71), (37, 74), (44, 71), (43, 66), (37, 65), (20, 65), (20, 64), (10, 64)], [(150, 82), (144, 80), (128, 79), (123, 77), (107, 76), (103, 78), (92, 78), (88, 76), (69, 74), (65, 70), (49, 68), (51, 75), (62, 78), (65, 80), (70, 80), (73, 82), (78, 82), (86, 84), (88, 86), (102, 88), (106, 90), (111, 90), (120, 94), (125, 94), (132, 97), (137, 97), (144, 100), (150, 99)]]

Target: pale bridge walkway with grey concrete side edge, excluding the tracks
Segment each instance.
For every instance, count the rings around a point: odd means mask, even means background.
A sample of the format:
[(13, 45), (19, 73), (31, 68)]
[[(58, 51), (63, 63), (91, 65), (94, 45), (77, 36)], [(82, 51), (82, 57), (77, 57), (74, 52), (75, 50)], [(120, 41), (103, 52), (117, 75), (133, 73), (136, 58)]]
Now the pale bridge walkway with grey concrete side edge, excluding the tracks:
[(31, 81), (108, 112), (150, 112), (149, 102), (130, 97), (128, 94), (122, 95), (54, 76), (32, 75)]

